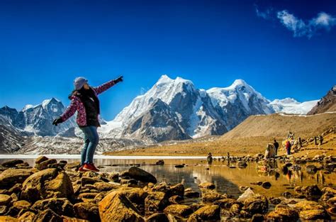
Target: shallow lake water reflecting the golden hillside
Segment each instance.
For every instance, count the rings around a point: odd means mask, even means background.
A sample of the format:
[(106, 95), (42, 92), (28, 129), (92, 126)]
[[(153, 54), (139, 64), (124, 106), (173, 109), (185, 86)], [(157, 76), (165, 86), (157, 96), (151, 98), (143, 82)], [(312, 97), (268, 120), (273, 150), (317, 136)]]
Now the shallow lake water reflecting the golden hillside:
[[(35, 162), (35, 159), (23, 160), (28, 162), (30, 166), (33, 166)], [(62, 158), (62, 160), (67, 160), (67, 162), (79, 161), (78, 159), (66, 158)], [(191, 187), (198, 192), (198, 184), (200, 182), (213, 182), (218, 192), (232, 194), (235, 198), (242, 194), (239, 190), (240, 186), (252, 187), (254, 192), (267, 196), (280, 196), (284, 192), (293, 194), (293, 188), (296, 186), (318, 184), (322, 189), (325, 184), (334, 186), (333, 182), (336, 181), (335, 173), (323, 174), (323, 171), (320, 170), (316, 174), (308, 174), (306, 165), (301, 165), (301, 169), (291, 169), (284, 174), (279, 168), (271, 172), (258, 171), (261, 168), (255, 162), (247, 162), (247, 167), (240, 169), (235, 162), (231, 162), (228, 165), (228, 162), (218, 160), (214, 160), (210, 165), (206, 159), (163, 159), (163, 166), (155, 165), (157, 160), (95, 159), (94, 161), (97, 166), (101, 167), (101, 172), (122, 172), (133, 165), (137, 165), (155, 175), (158, 182), (167, 182), (168, 184), (183, 182), (185, 187)], [(6, 160), (0, 159), (0, 163), (4, 161)], [(186, 166), (183, 168), (174, 167), (177, 164), (185, 164)], [(283, 165), (279, 162), (275, 164), (279, 167)], [(264, 189), (261, 186), (250, 184), (251, 182), (259, 181), (271, 182), (271, 188)]]

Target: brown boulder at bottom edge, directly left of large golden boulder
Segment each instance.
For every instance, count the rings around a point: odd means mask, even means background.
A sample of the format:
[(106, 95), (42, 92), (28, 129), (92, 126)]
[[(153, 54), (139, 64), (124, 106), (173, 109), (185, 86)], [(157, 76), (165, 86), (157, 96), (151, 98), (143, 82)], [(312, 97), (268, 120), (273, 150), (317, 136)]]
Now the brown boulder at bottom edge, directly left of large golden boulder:
[(84, 220), (101, 221), (97, 204), (89, 202), (74, 204), (74, 212), (77, 217)]

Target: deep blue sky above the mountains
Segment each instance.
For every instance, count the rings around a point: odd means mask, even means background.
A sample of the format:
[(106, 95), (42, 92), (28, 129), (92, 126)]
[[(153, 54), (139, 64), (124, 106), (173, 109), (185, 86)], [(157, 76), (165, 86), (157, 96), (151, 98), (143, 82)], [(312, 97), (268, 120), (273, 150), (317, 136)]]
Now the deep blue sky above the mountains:
[[(294, 37), (268, 9), (303, 21), (335, 1), (0, 1), (0, 106), (21, 109), (56, 97), (65, 105), (77, 76), (98, 85), (111, 120), (162, 74), (197, 88), (245, 81), (267, 99), (320, 99), (336, 84), (336, 26)], [(334, 21), (336, 22), (336, 21)]]

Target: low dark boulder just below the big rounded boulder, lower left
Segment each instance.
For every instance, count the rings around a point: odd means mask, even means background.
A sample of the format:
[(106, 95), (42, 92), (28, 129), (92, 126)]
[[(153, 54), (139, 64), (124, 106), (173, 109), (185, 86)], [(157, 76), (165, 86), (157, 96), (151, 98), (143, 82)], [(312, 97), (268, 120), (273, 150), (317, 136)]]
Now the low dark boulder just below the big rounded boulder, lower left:
[(50, 209), (60, 216), (74, 216), (74, 206), (66, 198), (50, 198), (36, 201), (31, 208), (36, 211)]

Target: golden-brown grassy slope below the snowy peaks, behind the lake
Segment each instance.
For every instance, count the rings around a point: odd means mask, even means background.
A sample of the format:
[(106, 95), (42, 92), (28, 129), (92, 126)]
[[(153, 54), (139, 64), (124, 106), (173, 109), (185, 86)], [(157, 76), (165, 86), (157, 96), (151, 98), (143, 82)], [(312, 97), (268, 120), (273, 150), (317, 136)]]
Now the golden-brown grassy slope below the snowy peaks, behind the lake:
[[(216, 140), (189, 140), (187, 143), (161, 143), (148, 148), (110, 152), (110, 155), (247, 155), (264, 152), (267, 143), (273, 138), (281, 141), (291, 130), (296, 137), (303, 139), (335, 128), (336, 113), (323, 113), (314, 116), (250, 116), (233, 130)], [(322, 148), (332, 148), (328, 154), (336, 154), (335, 132), (325, 138)], [(314, 146), (314, 145), (310, 145)], [(313, 152), (312, 152), (313, 153)]]

